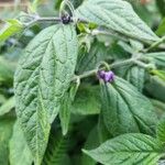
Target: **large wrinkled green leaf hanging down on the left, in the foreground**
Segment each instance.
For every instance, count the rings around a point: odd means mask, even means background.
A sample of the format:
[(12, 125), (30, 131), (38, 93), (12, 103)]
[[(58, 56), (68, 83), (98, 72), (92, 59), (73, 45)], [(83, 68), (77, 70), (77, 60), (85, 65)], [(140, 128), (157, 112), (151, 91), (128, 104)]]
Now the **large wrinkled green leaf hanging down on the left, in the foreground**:
[(16, 116), (37, 165), (46, 148), (51, 123), (74, 76), (77, 43), (73, 25), (50, 26), (29, 44), (16, 69)]

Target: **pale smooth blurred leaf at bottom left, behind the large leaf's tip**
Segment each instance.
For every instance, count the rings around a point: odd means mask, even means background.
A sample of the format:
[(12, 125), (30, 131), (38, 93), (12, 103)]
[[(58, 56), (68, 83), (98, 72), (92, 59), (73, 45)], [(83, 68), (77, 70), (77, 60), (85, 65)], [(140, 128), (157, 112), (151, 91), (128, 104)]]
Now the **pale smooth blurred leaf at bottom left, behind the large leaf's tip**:
[(32, 154), (19, 122), (15, 122), (10, 140), (10, 165), (32, 165)]

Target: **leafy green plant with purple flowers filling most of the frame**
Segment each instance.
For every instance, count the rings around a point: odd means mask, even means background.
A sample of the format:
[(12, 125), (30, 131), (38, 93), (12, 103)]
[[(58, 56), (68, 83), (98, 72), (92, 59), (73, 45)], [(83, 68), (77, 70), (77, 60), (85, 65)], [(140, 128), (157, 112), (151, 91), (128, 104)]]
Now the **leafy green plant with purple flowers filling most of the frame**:
[(37, 29), (0, 108), (0, 164), (163, 164), (164, 21), (154, 33), (125, 0), (56, 1), (55, 16), (38, 3), (0, 30), (6, 45)]

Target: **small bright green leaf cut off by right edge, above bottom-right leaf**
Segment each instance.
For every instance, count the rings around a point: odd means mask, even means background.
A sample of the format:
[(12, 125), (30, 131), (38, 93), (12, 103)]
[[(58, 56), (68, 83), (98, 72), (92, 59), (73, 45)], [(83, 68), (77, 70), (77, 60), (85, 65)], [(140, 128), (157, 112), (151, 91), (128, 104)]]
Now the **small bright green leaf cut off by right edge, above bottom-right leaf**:
[(160, 120), (156, 130), (157, 139), (165, 143), (165, 116)]

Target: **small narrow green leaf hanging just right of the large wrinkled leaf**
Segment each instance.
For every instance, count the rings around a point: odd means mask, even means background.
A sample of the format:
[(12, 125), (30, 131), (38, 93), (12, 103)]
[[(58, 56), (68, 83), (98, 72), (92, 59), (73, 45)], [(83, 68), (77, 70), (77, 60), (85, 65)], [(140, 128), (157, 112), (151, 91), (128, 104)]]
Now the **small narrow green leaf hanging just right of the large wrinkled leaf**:
[(63, 135), (66, 135), (69, 129), (70, 112), (72, 112), (70, 109), (72, 109), (72, 99), (70, 99), (69, 94), (66, 92), (62, 102), (61, 111), (59, 111), (59, 119), (61, 119)]

